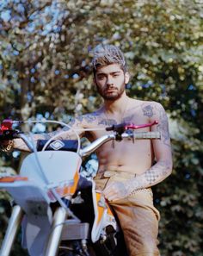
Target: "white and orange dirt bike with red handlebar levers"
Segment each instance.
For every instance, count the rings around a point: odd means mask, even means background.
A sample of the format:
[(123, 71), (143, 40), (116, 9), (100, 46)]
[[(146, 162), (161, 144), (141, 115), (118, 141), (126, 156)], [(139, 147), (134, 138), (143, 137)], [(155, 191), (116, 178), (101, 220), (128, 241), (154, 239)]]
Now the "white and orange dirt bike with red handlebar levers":
[(31, 256), (127, 255), (113, 209), (102, 192), (95, 190), (94, 179), (80, 174), (82, 159), (110, 140), (160, 139), (159, 132), (135, 131), (157, 122), (104, 128), (107, 134), (83, 148), (75, 130), (77, 140), (53, 136), (39, 140), (36, 146), (32, 135), (28, 138), (13, 128), (14, 123), (3, 121), (0, 140), (21, 138), (31, 153), (23, 160), (19, 175), (0, 177), (0, 189), (7, 190), (15, 202), (0, 256), (9, 256), (20, 226), (22, 247)]

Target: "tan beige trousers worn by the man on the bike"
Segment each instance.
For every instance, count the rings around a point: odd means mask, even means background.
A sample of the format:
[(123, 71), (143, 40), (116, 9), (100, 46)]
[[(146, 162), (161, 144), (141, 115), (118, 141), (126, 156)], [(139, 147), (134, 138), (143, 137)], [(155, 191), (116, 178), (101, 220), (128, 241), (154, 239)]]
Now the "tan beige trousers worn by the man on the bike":
[[(126, 181), (135, 176), (128, 172), (106, 173), (108, 175), (104, 172), (104, 175), (99, 174), (95, 177), (97, 190), (103, 190), (113, 181)], [(159, 212), (153, 205), (151, 189), (135, 190), (130, 196), (109, 204), (119, 218), (129, 256), (159, 256), (157, 248)]]

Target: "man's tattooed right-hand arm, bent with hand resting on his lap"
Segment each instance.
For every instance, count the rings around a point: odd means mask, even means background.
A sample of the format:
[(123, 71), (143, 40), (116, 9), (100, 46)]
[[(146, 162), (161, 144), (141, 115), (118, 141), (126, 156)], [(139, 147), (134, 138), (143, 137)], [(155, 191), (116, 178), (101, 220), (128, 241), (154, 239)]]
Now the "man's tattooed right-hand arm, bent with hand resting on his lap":
[[(149, 108), (149, 106), (148, 106)], [(116, 193), (108, 193), (104, 190), (108, 200), (114, 201), (127, 197), (134, 190), (144, 189), (158, 184), (167, 178), (172, 172), (172, 153), (169, 138), (169, 123), (163, 106), (159, 103), (151, 104), (151, 122), (157, 120), (157, 127), (152, 127), (151, 131), (159, 131), (161, 140), (152, 140), (153, 152), (157, 163), (136, 178), (120, 184), (111, 184)], [(113, 188), (111, 188), (113, 189)]]

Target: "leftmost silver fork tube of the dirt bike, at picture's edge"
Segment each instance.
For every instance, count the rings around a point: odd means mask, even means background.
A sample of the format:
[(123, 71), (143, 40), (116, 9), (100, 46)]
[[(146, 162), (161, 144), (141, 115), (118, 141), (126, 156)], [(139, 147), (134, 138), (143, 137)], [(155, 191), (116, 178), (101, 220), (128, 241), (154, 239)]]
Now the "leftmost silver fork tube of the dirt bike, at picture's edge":
[(17, 230), (22, 222), (22, 208), (19, 205), (15, 205), (12, 210), (12, 214), (9, 218), (9, 226), (6, 230), (6, 234), (3, 239), (0, 256), (9, 256), (11, 248), (13, 246)]

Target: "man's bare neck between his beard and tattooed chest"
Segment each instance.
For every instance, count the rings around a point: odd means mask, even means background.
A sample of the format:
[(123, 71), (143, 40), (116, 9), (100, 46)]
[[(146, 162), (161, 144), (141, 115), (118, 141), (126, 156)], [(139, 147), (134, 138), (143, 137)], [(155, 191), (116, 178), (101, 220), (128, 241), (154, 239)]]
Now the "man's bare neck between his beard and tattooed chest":
[(130, 98), (126, 96), (126, 92), (124, 92), (117, 100), (105, 100), (104, 110), (108, 113), (123, 113), (123, 109), (126, 109), (129, 99)]

